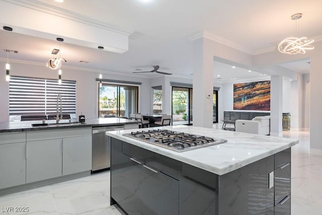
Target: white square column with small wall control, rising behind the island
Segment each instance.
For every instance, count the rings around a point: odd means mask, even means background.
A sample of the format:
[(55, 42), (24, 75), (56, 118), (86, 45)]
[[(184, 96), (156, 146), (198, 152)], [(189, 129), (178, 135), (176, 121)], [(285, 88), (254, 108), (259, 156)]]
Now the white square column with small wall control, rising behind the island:
[(193, 125), (212, 128), (213, 52), (212, 41), (193, 41)]

